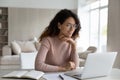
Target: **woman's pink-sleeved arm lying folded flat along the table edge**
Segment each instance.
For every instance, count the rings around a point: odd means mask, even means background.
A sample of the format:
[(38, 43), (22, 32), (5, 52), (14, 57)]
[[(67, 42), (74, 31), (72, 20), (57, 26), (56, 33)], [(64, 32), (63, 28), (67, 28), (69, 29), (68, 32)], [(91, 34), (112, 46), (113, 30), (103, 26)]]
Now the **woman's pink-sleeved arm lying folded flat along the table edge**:
[[(35, 69), (45, 72), (57, 72), (57, 71), (68, 71), (71, 70), (69, 66), (55, 66), (45, 63), (46, 55), (48, 49), (44, 46), (41, 46), (35, 60)], [(70, 64), (69, 64), (70, 65)]]

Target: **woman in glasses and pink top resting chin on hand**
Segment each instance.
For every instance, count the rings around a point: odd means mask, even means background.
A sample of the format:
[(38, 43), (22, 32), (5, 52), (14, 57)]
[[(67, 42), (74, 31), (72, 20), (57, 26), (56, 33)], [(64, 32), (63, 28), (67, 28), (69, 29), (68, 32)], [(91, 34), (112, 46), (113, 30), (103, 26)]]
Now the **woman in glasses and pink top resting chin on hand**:
[(56, 14), (40, 36), (35, 69), (45, 72), (68, 71), (79, 66), (75, 39), (79, 36), (80, 22), (76, 14), (63, 9)]

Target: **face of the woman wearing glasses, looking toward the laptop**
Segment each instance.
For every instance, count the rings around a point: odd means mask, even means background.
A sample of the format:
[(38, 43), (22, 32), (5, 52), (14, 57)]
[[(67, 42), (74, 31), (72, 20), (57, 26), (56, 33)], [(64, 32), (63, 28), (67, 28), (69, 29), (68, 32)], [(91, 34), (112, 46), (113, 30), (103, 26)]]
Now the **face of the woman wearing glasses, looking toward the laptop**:
[(74, 18), (69, 17), (68, 19), (65, 20), (63, 24), (58, 23), (58, 28), (60, 29), (59, 35), (71, 37), (76, 29)]

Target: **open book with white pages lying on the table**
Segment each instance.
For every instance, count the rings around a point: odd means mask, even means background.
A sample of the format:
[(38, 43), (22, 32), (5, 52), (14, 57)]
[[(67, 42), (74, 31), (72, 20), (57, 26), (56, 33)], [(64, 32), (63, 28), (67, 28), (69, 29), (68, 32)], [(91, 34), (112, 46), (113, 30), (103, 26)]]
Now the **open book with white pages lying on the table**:
[(42, 71), (36, 71), (36, 70), (22, 70), (22, 71), (12, 71), (8, 74), (3, 75), (3, 78), (30, 78), (38, 80), (40, 79), (45, 73)]

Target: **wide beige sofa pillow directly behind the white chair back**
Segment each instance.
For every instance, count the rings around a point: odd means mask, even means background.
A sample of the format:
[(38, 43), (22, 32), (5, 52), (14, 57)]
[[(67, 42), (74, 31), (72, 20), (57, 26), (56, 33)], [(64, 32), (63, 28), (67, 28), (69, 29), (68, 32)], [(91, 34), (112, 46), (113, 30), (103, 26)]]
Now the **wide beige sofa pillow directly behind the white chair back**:
[(22, 52), (34, 52), (37, 51), (33, 41), (17, 41), (21, 47)]

